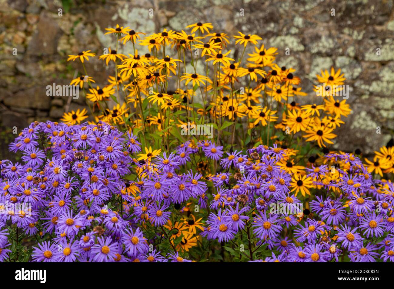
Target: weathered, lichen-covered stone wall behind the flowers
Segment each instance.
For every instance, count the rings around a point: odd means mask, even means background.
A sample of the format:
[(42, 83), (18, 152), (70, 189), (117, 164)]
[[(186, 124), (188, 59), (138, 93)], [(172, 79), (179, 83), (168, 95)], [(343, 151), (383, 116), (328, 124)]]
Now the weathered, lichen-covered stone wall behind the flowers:
[[(342, 68), (353, 113), (336, 132), (336, 146), (371, 153), (394, 130), (394, 13), (392, 0), (0, 0), (0, 121), (22, 128), (31, 121), (56, 120), (68, 98), (46, 96), (46, 85), (69, 84), (82, 70), (67, 54), (115, 46), (104, 28), (116, 24), (152, 33), (167, 27), (211, 22), (217, 31), (258, 34), (279, 48), (277, 63), (292, 66), (312, 91), (316, 73)], [(58, 9), (63, 15), (58, 15)], [(149, 9), (154, 16), (149, 16)], [(244, 9), (244, 16), (240, 16)], [(332, 16), (335, 9), (335, 16)], [(13, 48), (17, 55), (13, 55)], [(290, 48), (290, 55), (285, 49)], [(380, 48), (381, 55), (377, 55)], [(239, 48), (232, 47), (239, 57)], [(127, 52), (123, 50), (123, 52)], [(97, 57), (88, 74), (100, 85), (108, 77)], [(112, 70), (111, 70), (112, 71)], [(90, 73), (89, 73), (90, 72)], [(112, 73), (112, 72), (111, 72)], [(316, 98), (310, 93), (307, 98)], [(69, 110), (84, 106), (72, 101)], [(381, 127), (381, 134), (376, 133)], [(392, 141), (392, 140), (391, 140)]]

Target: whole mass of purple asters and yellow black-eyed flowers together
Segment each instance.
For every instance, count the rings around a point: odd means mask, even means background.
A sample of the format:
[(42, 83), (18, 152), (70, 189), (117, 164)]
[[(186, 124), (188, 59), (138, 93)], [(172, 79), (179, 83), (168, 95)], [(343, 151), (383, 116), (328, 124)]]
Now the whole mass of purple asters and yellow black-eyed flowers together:
[(33, 122), (9, 145), (21, 162), (0, 162), (0, 261), (394, 261), (394, 147), (365, 164), (327, 147), (351, 113), (340, 69), (300, 105), (301, 79), (261, 37), (234, 35), (235, 60), (226, 33), (187, 28), (107, 28), (101, 87), (84, 64), (96, 53), (69, 55), (90, 118)]

